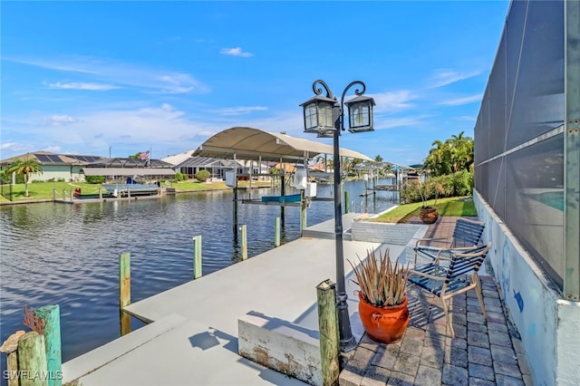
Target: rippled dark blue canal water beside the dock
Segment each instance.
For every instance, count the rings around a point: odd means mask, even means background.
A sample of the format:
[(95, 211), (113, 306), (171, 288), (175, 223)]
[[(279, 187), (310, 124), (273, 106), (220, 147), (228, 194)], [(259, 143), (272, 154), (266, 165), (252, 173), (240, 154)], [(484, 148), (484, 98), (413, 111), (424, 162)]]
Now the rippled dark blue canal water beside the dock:
[[(396, 205), (392, 192), (361, 196), (363, 181), (346, 182), (344, 190), (349, 191), (351, 211), (379, 213)], [(253, 198), (273, 194), (278, 194), (273, 188), (251, 192)], [(332, 186), (318, 186), (319, 197), (331, 194)], [(28, 331), (22, 323), (24, 304), (60, 305), (63, 362), (118, 338), (121, 253), (131, 253), (133, 303), (192, 279), (193, 236), (202, 236), (204, 275), (236, 264), (241, 238), (234, 232), (232, 198), (231, 190), (218, 190), (0, 207), (0, 344), (17, 330)], [(333, 201), (314, 201), (307, 225), (333, 215)], [(280, 217), (280, 207), (238, 204), (238, 225), (247, 225), (249, 258), (274, 247), (275, 217)], [(300, 208), (286, 207), (282, 243), (299, 236)], [(133, 330), (142, 325), (131, 320)]]

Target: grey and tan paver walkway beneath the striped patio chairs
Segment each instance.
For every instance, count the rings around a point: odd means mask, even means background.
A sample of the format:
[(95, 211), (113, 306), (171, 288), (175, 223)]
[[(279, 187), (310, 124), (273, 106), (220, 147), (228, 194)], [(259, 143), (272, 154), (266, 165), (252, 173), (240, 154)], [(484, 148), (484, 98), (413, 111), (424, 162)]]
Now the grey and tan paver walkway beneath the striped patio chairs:
[[(425, 237), (448, 237), (458, 217), (440, 217)], [(412, 218), (409, 223), (420, 223)], [(487, 267), (490, 272), (490, 267)], [(488, 320), (474, 291), (454, 296), (456, 337), (432, 294), (408, 292), (411, 322), (398, 343), (372, 341), (366, 334), (350, 354), (340, 384), (351, 385), (532, 385), (523, 346), (508, 321), (492, 275), (480, 275)]]

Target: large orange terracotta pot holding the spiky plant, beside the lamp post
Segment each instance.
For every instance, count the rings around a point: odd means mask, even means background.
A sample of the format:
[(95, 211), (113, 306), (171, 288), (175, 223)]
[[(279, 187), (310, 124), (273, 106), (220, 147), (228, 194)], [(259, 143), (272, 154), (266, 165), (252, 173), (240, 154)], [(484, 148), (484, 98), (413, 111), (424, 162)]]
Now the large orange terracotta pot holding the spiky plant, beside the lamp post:
[(376, 307), (359, 293), (359, 314), (364, 331), (373, 341), (380, 343), (395, 343), (401, 340), (409, 325), (408, 299), (403, 303), (386, 307)]

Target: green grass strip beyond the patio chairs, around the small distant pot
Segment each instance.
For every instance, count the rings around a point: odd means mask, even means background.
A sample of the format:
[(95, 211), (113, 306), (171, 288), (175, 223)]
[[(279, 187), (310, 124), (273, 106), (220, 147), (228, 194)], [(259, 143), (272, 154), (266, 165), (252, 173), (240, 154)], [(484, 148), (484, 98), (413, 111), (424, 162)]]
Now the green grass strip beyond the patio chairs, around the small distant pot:
[[(478, 212), (475, 209), (473, 200), (471, 198), (440, 198), (435, 205), (434, 200), (427, 201), (431, 207), (437, 207), (440, 216), (459, 216), (459, 217), (477, 217)], [(404, 204), (380, 217), (371, 218), (369, 221), (380, 223), (398, 223), (404, 222), (408, 217), (418, 216), (422, 203), (414, 202), (412, 204)]]

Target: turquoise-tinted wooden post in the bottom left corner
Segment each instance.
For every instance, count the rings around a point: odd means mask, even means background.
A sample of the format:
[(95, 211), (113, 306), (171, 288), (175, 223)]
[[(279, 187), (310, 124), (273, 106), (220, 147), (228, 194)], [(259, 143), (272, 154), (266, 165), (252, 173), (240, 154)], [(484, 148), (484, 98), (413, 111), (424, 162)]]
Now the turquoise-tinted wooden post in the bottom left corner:
[(63, 354), (61, 349), (61, 309), (58, 304), (43, 305), (34, 315), (44, 320), (44, 344), (48, 370), (48, 386), (63, 384)]

